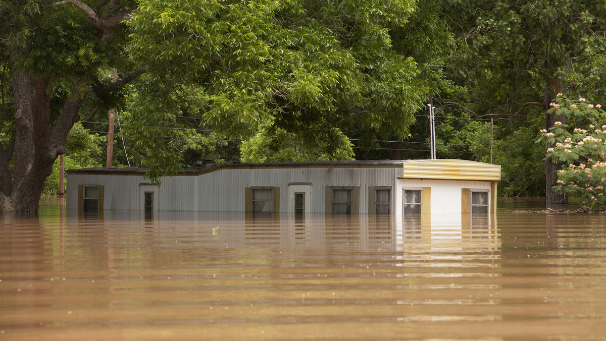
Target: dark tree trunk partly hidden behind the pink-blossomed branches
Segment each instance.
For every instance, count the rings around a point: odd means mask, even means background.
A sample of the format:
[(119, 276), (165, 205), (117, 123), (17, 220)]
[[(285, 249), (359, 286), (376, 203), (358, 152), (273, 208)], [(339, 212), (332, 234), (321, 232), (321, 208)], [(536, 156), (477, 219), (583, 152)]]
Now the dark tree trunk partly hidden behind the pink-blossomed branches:
[[(545, 105), (545, 129), (548, 131), (556, 121), (566, 124), (566, 116), (564, 114), (556, 115), (554, 112), (547, 112), (551, 101), (556, 98), (558, 93), (562, 93), (563, 89), (564, 86), (559, 78), (551, 78), (548, 87), (545, 88), (543, 97)], [(563, 163), (553, 163), (551, 158), (545, 159), (545, 201), (547, 207), (568, 204), (568, 198), (564, 193), (555, 193), (553, 191), (553, 187), (558, 184), (558, 174), (556, 172), (562, 168), (562, 165)]]

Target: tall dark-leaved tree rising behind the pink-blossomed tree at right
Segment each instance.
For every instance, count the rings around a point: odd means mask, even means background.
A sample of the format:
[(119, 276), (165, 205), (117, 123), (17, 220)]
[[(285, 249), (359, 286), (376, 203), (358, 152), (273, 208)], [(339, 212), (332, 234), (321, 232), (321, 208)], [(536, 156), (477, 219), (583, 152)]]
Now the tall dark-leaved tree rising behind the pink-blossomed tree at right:
[[(458, 38), (453, 79), (467, 85), (479, 116), (510, 122), (542, 115), (545, 128), (565, 122), (549, 111), (558, 93), (604, 98), (606, 5), (579, 0), (449, 1), (443, 16)], [(559, 165), (545, 161), (547, 204)]]

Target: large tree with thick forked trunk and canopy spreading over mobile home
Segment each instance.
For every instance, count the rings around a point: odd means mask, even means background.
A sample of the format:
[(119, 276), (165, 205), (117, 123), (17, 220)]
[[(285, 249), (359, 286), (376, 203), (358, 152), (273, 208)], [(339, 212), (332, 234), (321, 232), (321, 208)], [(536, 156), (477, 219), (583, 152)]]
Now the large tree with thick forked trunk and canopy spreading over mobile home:
[[(414, 10), (413, 0), (0, 0), (0, 71), (12, 84), (0, 210), (37, 211), (85, 101), (109, 107), (145, 71), (127, 133), (153, 179), (182, 166), (170, 128), (184, 110), (228, 138), (285, 132), (328, 153), (351, 126), (404, 136), (428, 90), (390, 31)], [(99, 76), (112, 67), (117, 85)]]

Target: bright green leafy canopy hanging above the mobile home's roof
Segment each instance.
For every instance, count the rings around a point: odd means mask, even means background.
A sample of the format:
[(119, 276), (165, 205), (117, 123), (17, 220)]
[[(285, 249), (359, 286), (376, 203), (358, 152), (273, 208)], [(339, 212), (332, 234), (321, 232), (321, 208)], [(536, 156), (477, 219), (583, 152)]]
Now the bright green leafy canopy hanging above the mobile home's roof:
[(315, 134), (308, 147), (327, 153), (348, 154), (338, 131), (349, 127), (405, 136), (428, 90), (390, 30), (414, 10), (411, 0), (141, 2), (128, 52), (149, 68), (128, 134), (159, 170), (150, 176), (178, 169), (175, 145), (153, 136), (170, 136), (184, 108), (229, 139)]

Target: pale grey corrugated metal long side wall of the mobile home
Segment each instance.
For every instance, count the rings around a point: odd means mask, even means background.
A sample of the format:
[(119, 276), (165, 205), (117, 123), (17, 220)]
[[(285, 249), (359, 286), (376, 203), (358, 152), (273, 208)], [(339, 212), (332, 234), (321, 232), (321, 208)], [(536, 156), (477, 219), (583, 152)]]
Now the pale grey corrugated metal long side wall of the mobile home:
[[(220, 168), (199, 176), (161, 177), (158, 210), (244, 211), (245, 188), (279, 187), (281, 211), (288, 210), (288, 184), (310, 182), (309, 212), (324, 212), (325, 186), (359, 186), (360, 211), (368, 211), (368, 186), (390, 186), (401, 167), (384, 168)], [(78, 207), (78, 185), (104, 185), (104, 210), (139, 210), (140, 175), (68, 174), (68, 209)], [(362, 188), (364, 188), (362, 190)]]

